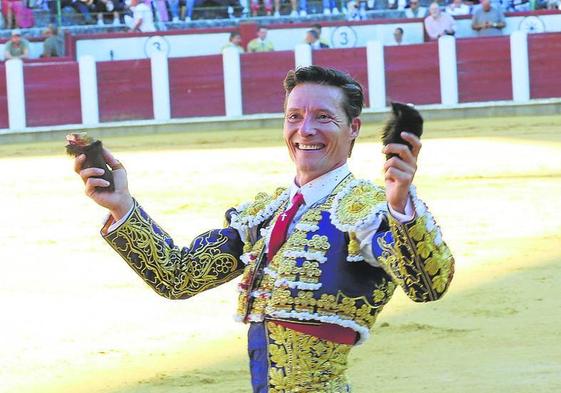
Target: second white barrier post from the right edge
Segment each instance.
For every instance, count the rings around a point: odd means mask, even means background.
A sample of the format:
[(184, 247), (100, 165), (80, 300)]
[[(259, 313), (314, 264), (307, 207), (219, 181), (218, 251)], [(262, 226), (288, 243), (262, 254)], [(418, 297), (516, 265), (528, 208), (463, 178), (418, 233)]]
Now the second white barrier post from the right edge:
[(440, 99), (444, 105), (458, 103), (458, 66), (456, 39), (446, 35), (438, 39), (438, 63), (440, 66)]

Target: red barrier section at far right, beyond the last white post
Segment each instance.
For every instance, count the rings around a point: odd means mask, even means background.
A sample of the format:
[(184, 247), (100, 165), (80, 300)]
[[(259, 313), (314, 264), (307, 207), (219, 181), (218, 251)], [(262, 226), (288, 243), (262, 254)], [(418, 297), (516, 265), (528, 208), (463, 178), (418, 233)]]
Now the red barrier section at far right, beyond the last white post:
[(530, 98), (561, 97), (561, 34), (529, 34)]

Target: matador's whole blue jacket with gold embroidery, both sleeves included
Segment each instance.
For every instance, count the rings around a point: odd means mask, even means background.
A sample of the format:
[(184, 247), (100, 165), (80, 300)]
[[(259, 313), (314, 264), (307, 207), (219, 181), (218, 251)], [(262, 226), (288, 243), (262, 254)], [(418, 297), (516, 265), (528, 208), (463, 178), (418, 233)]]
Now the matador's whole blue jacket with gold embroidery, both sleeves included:
[[(304, 213), (268, 266), (265, 244), (288, 201), (282, 189), (258, 194), (230, 212), (226, 228), (196, 237), (190, 247), (177, 247), (136, 202), (104, 237), (162, 296), (188, 298), (243, 272), (240, 320), (334, 323), (354, 329), (363, 342), (396, 285), (426, 302), (440, 298), (453, 275), (439, 228), (414, 188), (411, 197), (415, 219), (400, 224), (388, 213), (381, 187), (350, 175)], [(380, 267), (363, 261), (355, 236), (372, 225), (378, 227), (372, 246)]]

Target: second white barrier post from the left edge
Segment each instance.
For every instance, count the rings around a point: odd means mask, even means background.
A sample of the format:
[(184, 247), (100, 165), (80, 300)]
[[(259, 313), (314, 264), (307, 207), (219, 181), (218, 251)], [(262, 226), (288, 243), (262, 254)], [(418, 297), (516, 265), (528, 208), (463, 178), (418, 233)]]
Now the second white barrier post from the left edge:
[(82, 56), (78, 60), (80, 71), (80, 107), (82, 124), (99, 123), (99, 102), (97, 99), (97, 71), (93, 56)]

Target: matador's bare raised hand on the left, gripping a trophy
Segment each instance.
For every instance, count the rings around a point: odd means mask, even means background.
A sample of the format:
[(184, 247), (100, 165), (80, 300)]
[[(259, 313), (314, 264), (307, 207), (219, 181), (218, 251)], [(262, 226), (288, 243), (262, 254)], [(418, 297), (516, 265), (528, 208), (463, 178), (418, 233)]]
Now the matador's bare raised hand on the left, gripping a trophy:
[(82, 169), (82, 165), (86, 156), (79, 155), (74, 160), (74, 171), (80, 175), (84, 181), (85, 194), (93, 199), (98, 205), (108, 209), (111, 215), (118, 221), (131, 209), (134, 202), (129, 193), (127, 182), (127, 171), (123, 165), (117, 160), (106, 148), (103, 148), (103, 158), (107, 162), (113, 172), (113, 181), (115, 182), (115, 191), (98, 191), (96, 187), (107, 187), (109, 182), (106, 180), (93, 177), (100, 176), (104, 170), (101, 168)]

